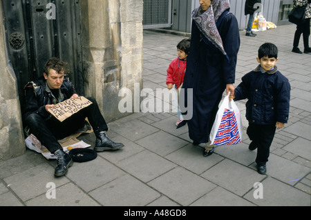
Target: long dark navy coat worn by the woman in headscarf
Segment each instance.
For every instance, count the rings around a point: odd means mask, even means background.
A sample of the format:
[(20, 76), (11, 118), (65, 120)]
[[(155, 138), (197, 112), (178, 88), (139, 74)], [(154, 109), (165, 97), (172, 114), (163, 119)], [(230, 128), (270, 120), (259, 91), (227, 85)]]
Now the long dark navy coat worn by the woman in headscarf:
[[(192, 118), (187, 121), (189, 137), (198, 143), (209, 141), (209, 133), (226, 84), (234, 83), (235, 80), (236, 59), (240, 47), (238, 21), (232, 13), (219, 21), (220, 19), (216, 26), (228, 59), (220, 50), (207, 45), (201, 39), (200, 30), (192, 21), (190, 53), (182, 88), (185, 88), (187, 115), (192, 111)], [(193, 106), (187, 106), (188, 89), (191, 88)]]

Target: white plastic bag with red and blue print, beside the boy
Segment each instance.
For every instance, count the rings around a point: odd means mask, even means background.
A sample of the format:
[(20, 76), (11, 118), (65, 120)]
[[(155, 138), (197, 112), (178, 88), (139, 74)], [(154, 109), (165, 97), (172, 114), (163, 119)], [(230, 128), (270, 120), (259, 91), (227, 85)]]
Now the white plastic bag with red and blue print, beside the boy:
[(229, 94), (220, 104), (209, 138), (211, 145), (233, 145), (241, 143), (242, 121), (240, 110), (234, 101), (229, 101)]

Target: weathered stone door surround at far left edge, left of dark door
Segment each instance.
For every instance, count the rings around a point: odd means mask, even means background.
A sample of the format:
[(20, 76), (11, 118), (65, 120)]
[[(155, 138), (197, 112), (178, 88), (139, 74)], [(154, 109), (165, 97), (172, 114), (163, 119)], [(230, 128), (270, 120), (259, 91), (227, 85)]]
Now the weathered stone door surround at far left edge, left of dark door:
[[(1, 1), (0, 1), (0, 8)], [(25, 152), (17, 79), (8, 62), (3, 15), (0, 10), (0, 161)]]

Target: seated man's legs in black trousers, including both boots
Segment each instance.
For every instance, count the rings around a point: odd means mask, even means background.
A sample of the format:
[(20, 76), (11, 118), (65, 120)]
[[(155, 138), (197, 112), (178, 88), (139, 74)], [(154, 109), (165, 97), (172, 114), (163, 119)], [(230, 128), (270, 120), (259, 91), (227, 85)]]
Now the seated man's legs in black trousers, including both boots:
[(57, 156), (55, 177), (66, 174), (68, 167), (73, 163), (70, 156), (63, 151), (62, 146), (57, 140), (64, 139), (70, 134), (75, 133), (79, 128), (82, 128), (86, 117), (96, 136), (94, 150), (97, 152), (118, 150), (124, 146), (122, 143), (115, 143), (106, 137), (108, 126), (98, 108), (97, 101), (91, 97), (87, 99), (92, 101), (90, 106), (80, 110), (62, 122), (58, 121), (55, 117), (44, 120), (39, 114), (30, 114), (26, 119), (30, 132), (34, 134), (51, 153)]

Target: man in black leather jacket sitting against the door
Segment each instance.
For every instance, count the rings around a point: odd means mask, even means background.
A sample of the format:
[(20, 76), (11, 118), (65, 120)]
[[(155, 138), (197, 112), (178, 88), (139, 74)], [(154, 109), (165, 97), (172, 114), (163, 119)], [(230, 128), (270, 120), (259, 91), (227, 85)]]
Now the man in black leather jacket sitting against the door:
[(25, 87), (26, 105), (23, 109), (23, 120), (39, 141), (57, 157), (55, 177), (66, 174), (73, 159), (63, 151), (57, 140), (64, 139), (84, 126), (87, 117), (96, 136), (95, 151), (117, 150), (122, 143), (115, 143), (106, 137), (108, 126), (100, 113), (97, 102), (87, 97), (92, 104), (73, 114), (65, 121), (58, 121), (48, 112), (56, 103), (66, 99), (79, 97), (73, 84), (65, 76), (66, 63), (58, 58), (50, 59), (44, 66), (44, 74), (36, 81), (31, 81)]

